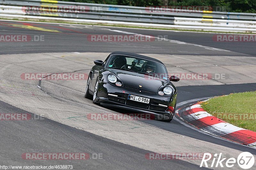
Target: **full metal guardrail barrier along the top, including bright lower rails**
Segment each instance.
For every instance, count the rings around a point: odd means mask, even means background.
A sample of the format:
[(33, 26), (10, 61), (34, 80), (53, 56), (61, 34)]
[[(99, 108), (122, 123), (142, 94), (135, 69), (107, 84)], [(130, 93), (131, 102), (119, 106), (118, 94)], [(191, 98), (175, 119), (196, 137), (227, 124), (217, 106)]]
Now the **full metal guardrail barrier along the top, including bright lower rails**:
[[(68, 10), (65, 10), (65, 8)], [(47, 19), (52, 18), (52, 20), (76, 20), (77, 22), (79, 20), (79, 22), (86, 21), (87, 23), (95, 23), (96, 21), (98, 23), (122, 23), (122, 25), (138, 23), (138, 26), (150, 26), (151, 24), (152, 27), (178, 29), (256, 32), (255, 13), (188, 12), (185, 10), (156, 12), (154, 10), (152, 10), (152, 7), (74, 3), (55, 0), (0, 0), (0, 18), (46, 19), (47, 17)]]

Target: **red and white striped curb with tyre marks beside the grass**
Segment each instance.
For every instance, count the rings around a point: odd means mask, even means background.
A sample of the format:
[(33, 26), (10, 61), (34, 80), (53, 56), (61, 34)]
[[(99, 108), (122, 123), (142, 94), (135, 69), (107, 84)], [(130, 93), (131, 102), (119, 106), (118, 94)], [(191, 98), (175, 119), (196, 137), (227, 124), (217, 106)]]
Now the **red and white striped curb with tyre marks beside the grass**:
[(177, 114), (182, 120), (204, 132), (256, 148), (256, 132), (239, 128), (214, 117), (207, 113), (200, 103), (178, 110)]

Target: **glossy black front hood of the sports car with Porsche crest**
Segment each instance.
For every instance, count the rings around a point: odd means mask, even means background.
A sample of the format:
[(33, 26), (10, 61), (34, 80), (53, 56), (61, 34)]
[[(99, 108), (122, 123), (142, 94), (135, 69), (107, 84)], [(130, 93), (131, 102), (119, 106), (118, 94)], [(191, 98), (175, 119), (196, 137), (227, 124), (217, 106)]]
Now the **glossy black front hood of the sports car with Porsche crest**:
[(121, 79), (123, 85), (126, 87), (157, 92), (162, 85), (168, 83), (167, 80), (155, 78), (144, 74), (133, 73), (130, 71), (121, 71), (114, 69), (111, 69), (109, 71), (113, 72), (116, 76), (118, 76)]

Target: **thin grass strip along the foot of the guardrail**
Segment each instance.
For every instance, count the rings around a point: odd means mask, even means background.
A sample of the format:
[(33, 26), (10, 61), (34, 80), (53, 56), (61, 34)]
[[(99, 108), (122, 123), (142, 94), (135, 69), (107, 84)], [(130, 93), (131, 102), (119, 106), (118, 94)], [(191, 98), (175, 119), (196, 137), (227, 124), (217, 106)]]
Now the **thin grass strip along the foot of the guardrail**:
[(156, 29), (156, 30), (172, 30), (172, 31), (193, 31), (193, 32), (205, 32), (205, 33), (237, 33), (237, 34), (256, 34), (256, 33), (240, 33), (240, 32), (223, 32), (223, 31), (203, 31), (203, 30), (190, 30), (190, 29), (175, 29), (175, 28), (157, 28), (157, 27), (144, 27), (144, 26), (127, 26), (127, 25), (117, 25), (117, 24), (92, 24), (92, 23), (79, 23), (79, 22), (65, 22), (59, 20), (45, 20), (45, 19), (8, 19), (0, 18), (4, 20), (14, 20), (14, 21), (37, 21), (37, 22), (52, 22), (52, 23), (62, 23), (62, 24), (81, 24), (81, 25), (92, 25), (92, 26), (114, 26), (114, 27), (124, 27), (124, 28), (142, 28), (142, 29)]

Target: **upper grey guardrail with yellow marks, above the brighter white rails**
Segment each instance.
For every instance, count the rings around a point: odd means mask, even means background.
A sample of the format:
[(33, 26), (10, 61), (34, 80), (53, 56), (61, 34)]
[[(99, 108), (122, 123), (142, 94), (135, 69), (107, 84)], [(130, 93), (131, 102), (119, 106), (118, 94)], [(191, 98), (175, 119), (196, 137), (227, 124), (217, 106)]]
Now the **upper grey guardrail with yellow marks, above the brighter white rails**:
[[(186, 17), (186, 18), (213, 18), (213, 19), (235, 19), (235, 20), (251, 20), (256, 21), (255, 13), (237, 13), (237, 12), (219, 12), (219, 11), (192, 11), (176, 10), (175, 12), (154, 12), (153, 7), (135, 7), (124, 5), (108, 5), (108, 4), (91, 4), (91, 3), (74, 3), (55, 0), (0, 0), (0, 5), (12, 6), (85, 6), (89, 11), (100, 9), (98, 12), (118, 13), (118, 14), (134, 14), (145, 16), (164, 16), (164, 17)], [(160, 10), (161, 11), (161, 10)], [(164, 10), (162, 10), (164, 11)], [(107, 14), (106, 14), (107, 15)]]

